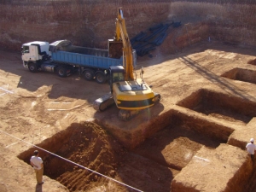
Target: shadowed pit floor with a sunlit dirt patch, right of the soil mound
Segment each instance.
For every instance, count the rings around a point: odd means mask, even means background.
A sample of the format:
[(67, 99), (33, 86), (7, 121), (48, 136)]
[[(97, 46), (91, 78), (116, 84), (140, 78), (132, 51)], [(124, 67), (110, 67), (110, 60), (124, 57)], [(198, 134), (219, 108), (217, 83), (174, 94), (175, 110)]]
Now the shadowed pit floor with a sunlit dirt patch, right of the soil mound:
[[(189, 127), (189, 123), (183, 122), (184, 119), (182, 117), (178, 117), (178, 115), (173, 117), (178, 119), (177, 124), (173, 122), (172, 125), (158, 131), (154, 136), (134, 148), (132, 152), (153, 160), (162, 166), (181, 171), (202, 146), (217, 148), (220, 143), (227, 141), (231, 132), (225, 138), (212, 137), (211, 134), (200, 131), (200, 127), (197, 125), (194, 125), (194, 128)], [(198, 123), (200, 122), (202, 125), (206, 125), (206, 122), (198, 120)], [(215, 128), (219, 132), (222, 131), (218, 129), (217, 125), (209, 125), (209, 127), (211, 129)]]

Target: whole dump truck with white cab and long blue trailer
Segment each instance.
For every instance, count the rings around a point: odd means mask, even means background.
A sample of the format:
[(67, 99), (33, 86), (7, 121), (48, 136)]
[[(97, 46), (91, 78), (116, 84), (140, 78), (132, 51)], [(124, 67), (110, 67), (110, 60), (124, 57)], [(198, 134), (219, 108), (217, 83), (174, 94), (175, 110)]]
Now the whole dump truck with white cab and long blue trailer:
[(48, 71), (67, 77), (79, 71), (84, 79), (96, 79), (99, 84), (108, 79), (109, 67), (123, 66), (123, 57), (110, 58), (108, 49), (73, 46), (68, 40), (22, 44), (22, 61), (32, 73)]

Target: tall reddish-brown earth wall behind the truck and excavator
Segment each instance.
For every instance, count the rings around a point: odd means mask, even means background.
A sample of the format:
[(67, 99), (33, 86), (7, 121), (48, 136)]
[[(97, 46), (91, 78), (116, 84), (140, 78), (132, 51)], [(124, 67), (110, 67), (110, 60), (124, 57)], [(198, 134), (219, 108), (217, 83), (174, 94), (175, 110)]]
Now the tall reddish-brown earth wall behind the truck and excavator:
[(256, 45), (256, 5), (243, 1), (2, 1), (0, 45), (20, 50), (21, 44), (68, 39), (75, 45), (107, 49), (113, 38), (117, 9), (124, 10), (130, 38), (160, 22), (181, 22), (171, 28), (158, 50), (173, 54), (191, 44), (219, 40)]

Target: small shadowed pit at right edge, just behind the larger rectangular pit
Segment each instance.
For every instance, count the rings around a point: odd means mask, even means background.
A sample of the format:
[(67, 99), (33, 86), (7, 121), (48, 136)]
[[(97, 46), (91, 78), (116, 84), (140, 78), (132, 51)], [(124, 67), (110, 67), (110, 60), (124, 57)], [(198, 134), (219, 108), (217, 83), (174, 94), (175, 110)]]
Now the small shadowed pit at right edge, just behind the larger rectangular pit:
[(256, 71), (249, 69), (234, 68), (221, 75), (221, 77), (256, 84)]

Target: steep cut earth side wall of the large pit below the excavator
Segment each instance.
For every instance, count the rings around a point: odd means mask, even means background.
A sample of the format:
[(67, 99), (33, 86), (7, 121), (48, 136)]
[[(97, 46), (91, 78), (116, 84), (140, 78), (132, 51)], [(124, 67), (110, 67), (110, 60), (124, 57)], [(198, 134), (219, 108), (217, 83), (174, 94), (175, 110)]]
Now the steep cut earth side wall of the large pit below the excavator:
[(104, 127), (106, 127), (125, 148), (132, 150), (146, 139), (154, 137), (158, 131), (175, 125), (200, 132), (202, 135), (212, 137), (213, 139), (219, 139), (222, 143), (226, 143), (228, 137), (230, 137), (230, 134), (234, 131), (233, 128), (228, 126), (217, 124), (209, 119), (202, 119), (194, 115), (194, 112), (188, 114), (186, 111), (177, 108), (172, 108), (147, 123), (133, 126), (130, 130), (114, 125), (104, 125)]

